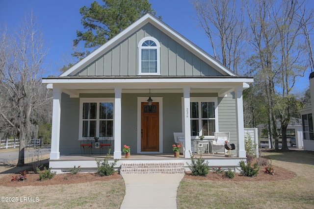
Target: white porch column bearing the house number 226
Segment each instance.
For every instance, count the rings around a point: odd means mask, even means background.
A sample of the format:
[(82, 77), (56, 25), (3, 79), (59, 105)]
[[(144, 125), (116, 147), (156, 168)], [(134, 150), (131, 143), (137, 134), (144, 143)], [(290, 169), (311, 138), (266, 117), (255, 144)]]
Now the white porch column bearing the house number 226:
[(184, 87), (184, 138), (185, 138), (185, 158), (190, 158), (191, 155), (191, 116), (190, 116), (190, 87)]

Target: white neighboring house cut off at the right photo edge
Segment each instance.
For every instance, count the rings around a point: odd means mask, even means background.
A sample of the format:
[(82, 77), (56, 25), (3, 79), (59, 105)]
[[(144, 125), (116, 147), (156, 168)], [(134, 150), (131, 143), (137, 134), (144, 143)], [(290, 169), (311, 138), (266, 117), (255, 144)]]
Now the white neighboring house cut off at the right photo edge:
[[(314, 104), (314, 72), (310, 74), (311, 104)], [(304, 150), (314, 151), (314, 130), (313, 130), (313, 108), (312, 106), (300, 110), (303, 127)]]

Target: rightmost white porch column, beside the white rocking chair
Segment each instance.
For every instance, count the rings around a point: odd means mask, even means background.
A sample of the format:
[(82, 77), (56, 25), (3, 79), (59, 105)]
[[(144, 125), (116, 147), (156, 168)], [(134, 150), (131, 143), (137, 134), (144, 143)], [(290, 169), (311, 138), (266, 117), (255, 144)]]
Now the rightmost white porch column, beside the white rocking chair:
[(236, 131), (237, 131), (237, 157), (245, 158), (246, 152), (244, 147), (244, 119), (243, 119), (243, 87), (235, 88), (235, 115), (236, 115)]

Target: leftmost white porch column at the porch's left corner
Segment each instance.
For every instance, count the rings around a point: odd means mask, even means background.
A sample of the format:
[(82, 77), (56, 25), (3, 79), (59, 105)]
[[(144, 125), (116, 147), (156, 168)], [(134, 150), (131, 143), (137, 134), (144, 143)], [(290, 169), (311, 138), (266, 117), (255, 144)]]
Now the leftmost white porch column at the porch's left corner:
[(60, 117), (61, 117), (61, 90), (58, 87), (53, 88), (52, 102), (52, 136), (50, 159), (58, 160), (60, 158)]

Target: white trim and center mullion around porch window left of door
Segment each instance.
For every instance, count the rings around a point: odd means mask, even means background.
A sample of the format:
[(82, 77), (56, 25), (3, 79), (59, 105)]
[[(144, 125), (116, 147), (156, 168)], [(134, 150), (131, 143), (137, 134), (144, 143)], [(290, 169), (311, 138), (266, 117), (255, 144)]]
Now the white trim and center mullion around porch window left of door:
[[(101, 102), (112, 102), (113, 103), (113, 135), (114, 135), (114, 98), (80, 98), (79, 99), (79, 128), (78, 128), (78, 140), (84, 140), (83, 136), (83, 103), (101, 103)], [(100, 105), (97, 105), (97, 112), (96, 112), (96, 137), (99, 137), (99, 109)], [(112, 136), (114, 139), (114, 136)], [(110, 139), (110, 140), (112, 140)]]

